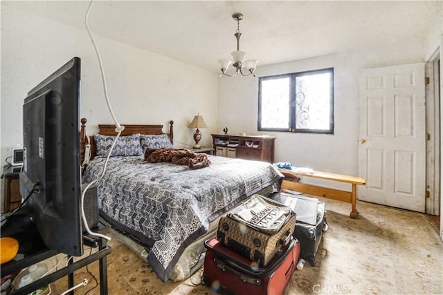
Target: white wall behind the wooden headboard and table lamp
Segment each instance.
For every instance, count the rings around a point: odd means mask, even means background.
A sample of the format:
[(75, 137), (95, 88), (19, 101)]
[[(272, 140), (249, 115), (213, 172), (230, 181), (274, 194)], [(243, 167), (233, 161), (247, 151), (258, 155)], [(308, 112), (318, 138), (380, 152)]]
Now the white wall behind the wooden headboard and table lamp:
[[(95, 36), (107, 77), (111, 105), (120, 124), (165, 124), (174, 120), (174, 145), (194, 144), (194, 115), (208, 129), (201, 144), (210, 145), (217, 129), (218, 75), (174, 59)], [(22, 143), (21, 108), (26, 93), (74, 56), (82, 59), (82, 117), (88, 133), (113, 124), (105, 104), (98, 61), (86, 30), (78, 30), (1, 5), (1, 153), (4, 160)], [(183, 144), (181, 144), (183, 143)], [(3, 165), (2, 164), (2, 165)]]

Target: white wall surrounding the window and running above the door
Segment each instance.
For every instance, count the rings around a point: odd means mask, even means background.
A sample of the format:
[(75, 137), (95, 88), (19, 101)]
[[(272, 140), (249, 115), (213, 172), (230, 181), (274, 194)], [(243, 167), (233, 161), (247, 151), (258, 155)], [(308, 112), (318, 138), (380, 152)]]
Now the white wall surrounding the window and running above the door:
[[(334, 135), (257, 132), (258, 78), (223, 77), (219, 86), (218, 132), (227, 126), (231, 134), (273, 135), (277, 137), (275, 162), (291, 162), (295, 166), (309, 166), (318, 171), (357, 175), (359, 72), (364, 68), (422, 61), (423, 44), (396, 44), (360, 53), (327, 55), (257, 68), (259, 77), (334, 67)], [(305, 182), (321, 181), (309, 178)], [(346, 184), (322, 185), (350, 190)]]

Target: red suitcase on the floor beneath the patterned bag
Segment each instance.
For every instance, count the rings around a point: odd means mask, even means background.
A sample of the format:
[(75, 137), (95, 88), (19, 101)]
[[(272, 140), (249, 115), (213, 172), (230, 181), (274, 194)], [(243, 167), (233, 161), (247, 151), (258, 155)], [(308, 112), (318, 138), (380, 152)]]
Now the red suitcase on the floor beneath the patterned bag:
[(278, 251), (266, 267), (221, 245), (217, 238), (205, 242), (202, 282), (221, 294), (280, 295), (287, 287), (300, 257), (300, 243), (293, 239)]

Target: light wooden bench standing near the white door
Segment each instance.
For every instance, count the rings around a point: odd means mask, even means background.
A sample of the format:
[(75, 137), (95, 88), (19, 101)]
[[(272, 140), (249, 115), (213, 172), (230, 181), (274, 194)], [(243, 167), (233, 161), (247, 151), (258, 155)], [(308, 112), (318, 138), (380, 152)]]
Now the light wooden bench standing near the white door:
[[(328, 172), (313, 171), (311, 173), (298, 172), (296, 170), (279, 169), (284, 175), (284, 180), (282, 182), (282, 189), (291, 189), (293, 191), (300, 191), (300, 193), (308, 193), (309, 195), (320, 196), (325, 198), (330, 198), (334, 200), (339, 200), (343, 202), (351, 203), (352, 209), (350, 213), (351, 218), (356, 218), (356, 185), (365, 185), (365, 178), (359, 178), (356, 176), (334, 174)], [(303, 184), (298, 182), (299, 176), (307, 176), (311, 178), (320, 178), (325, 180), (332, 180), (338, 182), (347, 182), (352, 184), (352, 192), (341, 191), (338, 189), (327, 189), (325, 187), (316, 187), (312, 184)]]

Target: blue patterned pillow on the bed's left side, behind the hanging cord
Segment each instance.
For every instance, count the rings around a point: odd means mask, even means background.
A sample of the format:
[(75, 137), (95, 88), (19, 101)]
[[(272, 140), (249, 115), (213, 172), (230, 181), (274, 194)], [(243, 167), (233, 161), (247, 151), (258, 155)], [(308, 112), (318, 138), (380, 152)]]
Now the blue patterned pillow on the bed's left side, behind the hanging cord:
[[(111, 149), (112, 143), (116, 139), (115, 136), (110, 135), (94, 135), (94, 141), (96, 142), (97, 155), (107, 157), (109, 149)], [(120, 136), (112, 150), (111, 157), (118, 155), (141, 155), (140, 134), (133, 134), (127, 136)]]

